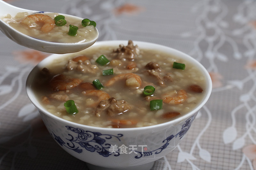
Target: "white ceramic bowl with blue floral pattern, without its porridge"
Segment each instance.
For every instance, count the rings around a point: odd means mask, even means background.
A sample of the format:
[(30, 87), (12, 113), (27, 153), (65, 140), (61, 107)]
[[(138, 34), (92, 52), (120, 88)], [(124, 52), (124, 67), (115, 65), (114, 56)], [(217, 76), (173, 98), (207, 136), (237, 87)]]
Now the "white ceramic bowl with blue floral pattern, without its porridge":
[[(93, 46), (116, 45), (118, 47), (119, 44), (125, 45), (127, 42), (98, 41)], [(88, 165), (92, 169), (100, 169), (100, 167), (103, 167), (103, 169), (150, 169), (155, 160), (171, 152), (185, 137), (199, 109), (206, 103), (212, 91), (212, 81), (207, 70), (194, 58), (162, 45), (139, 41), (134, 41), (133, 43), (137, 44), (139, 48), (158, 49), (194, 63), (203, 72), (207, 80), (203, 101), (188, 114), (170, 122), (140, 128), (99, 128), (69, 122), (52, 115), (40, 105), (31, 89), (31, 84), (37, 71), (44, 68), (51, 60), (64, 55), (54, 54), (45, 58), (31, 71), (27, 79), (26, 90), (28, 97), (39, 110), (44, 124), (53, 139), (66, 152), (89, 163)], [(118, 147), (128, 147), (125, 148), (127, 153), (120, 153), (121, 148), (119, 149)], [(132, 147), (136, 153), (129, 153), (132, 151)], [(119, 151), (113, 153), (115, 149), (119, 149)]]

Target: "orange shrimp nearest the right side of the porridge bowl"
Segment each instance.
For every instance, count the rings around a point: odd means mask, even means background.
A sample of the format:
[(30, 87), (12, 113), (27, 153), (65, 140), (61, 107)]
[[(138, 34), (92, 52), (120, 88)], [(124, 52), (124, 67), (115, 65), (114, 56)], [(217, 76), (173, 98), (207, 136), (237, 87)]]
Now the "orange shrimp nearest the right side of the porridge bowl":
[(171, 91), (168, 93), (165, 93), (163, 95), (163, 101), (165, 103), (169, 103), (169, 104), (180, 104), (183, 103), (186, 99), (187, 99), (187, 92), (185, 90), (180, 90), (180, 91)]

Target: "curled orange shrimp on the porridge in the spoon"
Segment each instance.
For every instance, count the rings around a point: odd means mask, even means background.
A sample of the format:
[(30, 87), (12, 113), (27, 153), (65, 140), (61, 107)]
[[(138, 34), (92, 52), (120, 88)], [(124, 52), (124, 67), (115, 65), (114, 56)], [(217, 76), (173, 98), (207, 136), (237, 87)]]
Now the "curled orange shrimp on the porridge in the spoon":
[(44, 14), (32, 14), (28, 15), (21, 21), (22, 24), (28, 25), (29, 27), (35, 27), (37, 25), (43, 25), (41, 31), (48, 33), (55, 26), (54, 19)]

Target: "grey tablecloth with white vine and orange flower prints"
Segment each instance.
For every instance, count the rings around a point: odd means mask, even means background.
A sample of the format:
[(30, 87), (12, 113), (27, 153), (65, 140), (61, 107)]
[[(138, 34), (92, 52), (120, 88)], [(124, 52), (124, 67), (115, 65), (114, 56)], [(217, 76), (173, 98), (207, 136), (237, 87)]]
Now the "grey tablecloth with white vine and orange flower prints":
[[(183, 51), (209, 71), (213, 90), (181, 144), (152, 170), (256, 169), (256, 1), (6, 0), (97, 22), (98, 41), (134, 40)], [(46, 130), (25, 91), (50, 54), (0, 33), (0, 169), (88, 169)]]

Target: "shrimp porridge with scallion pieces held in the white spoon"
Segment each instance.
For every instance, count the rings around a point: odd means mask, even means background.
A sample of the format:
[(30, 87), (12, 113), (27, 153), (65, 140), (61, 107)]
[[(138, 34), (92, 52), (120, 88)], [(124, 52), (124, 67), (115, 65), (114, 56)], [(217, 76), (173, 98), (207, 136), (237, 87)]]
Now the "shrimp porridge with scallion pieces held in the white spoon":
[(15, 16), (7, 14), (1, 19), (21, 33), (49, 42), (83, 43), (98, 36), (96, 23), (87, 18), (48, 12), (19, 12)]

